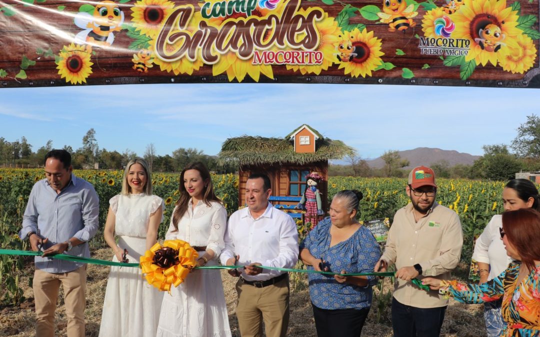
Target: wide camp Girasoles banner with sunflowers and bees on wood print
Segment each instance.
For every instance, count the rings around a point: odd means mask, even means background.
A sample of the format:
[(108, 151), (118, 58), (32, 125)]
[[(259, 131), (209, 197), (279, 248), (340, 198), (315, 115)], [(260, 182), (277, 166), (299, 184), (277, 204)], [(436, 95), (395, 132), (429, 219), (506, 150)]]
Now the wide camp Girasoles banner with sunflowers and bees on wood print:
[(2, 87), (540, 87), (538, 0), (0, 0)]

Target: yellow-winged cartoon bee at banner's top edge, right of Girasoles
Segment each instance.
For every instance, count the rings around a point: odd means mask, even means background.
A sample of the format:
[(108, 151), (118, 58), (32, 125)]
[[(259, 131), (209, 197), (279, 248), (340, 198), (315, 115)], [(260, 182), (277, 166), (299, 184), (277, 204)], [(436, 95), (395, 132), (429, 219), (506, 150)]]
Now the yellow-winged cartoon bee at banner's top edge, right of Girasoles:
[(418, 12), (414, 11), (414, 4), (407, 6), (405, 0), (384, 0), (382, 11), (377, 13), (377, 16), (381, 18), (382, 23), (389, 25), (388, 31), (395, 32), (396, 30), (403, 31), (408, 27), (416, 26), (416, 22), (413, 21)]

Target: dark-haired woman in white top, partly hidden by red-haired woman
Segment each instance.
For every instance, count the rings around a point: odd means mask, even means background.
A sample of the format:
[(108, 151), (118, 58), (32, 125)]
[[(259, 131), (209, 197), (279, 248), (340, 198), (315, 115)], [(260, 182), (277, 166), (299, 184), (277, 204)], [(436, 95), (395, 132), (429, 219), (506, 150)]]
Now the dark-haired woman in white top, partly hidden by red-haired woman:
[[(540, 211), (538, 190), (530, 180), (510, 180), (504, 187), (502, 197), (505, 211), (520, 208), (534, 208)], [(480, 270), (480, 284), (499, 276), (511, 262), (501, 240), (500, 228), (502, 228), (502, 216), (495, 215), (476, 240), (473, 259), (476, 260)], [(484, 304), (484, 320), (488, 337), (502, 335), (505, 323), (501, 316), (501, 304), (502, 300)]]

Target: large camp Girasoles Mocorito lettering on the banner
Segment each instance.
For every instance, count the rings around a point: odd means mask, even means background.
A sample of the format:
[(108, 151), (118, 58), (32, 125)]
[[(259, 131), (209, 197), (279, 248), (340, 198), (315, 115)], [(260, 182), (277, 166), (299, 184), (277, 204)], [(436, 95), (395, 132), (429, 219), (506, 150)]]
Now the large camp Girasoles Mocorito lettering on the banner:
[[(253, 0), (231, 0), (219, 2), (216, 6), (205, 3), (201, 8), (203, 19), (198, 23), (198, 29), (188, 31), (186, 27), (193, 19), (193, 5), (183, 5), (175, 8), (159, 32), (154, 42), (156, 57), (166, 62), (174, 62), (183, 57), (190, 61), (201, 58), (205, 64), (215, 64), (221, 55), (234, 52), (238, 58), (247, 60), (254, 56), (255, 51), (268, 52), (272, 47), (276, 49), (292, 49), (295, 60), (306, 61), (302, 53), (313, 54), (311, 58), (315, 63), (313, 50), (319, 45), (319, 34), (315, 22), (321, 20), (324, 12), (321, 8), (312, 7), (299, 13), (300, 0), (289, 0), (279, 11), (269, 11), (267, 15), (249, 16), (257, 2)], [(247, 17), (228, 17), (219, 26), (210, 24), (204, 19), (217, 17), (225, 13), (241, 12)], [(301, 36), (302, 38), (299, 38)], [(274, 54), (275, 56), (275, 54)], [(285, 57), (285, 54), (282, 58)], [(293, 58), (292, 54), (288, 57)], [(275, 58), (277, 59), (277, 57)], [(259, 55), (259, 60), (262, 57)], [(271, 61), (266, 57), (266, 61)], [(322, 55), (320, 57), (322, 61)], [(276, 60), (274, 60), (276, 61)], [(279, 61), (279, 60), (278, 60)], [(268, 62), (274, 63), (274, 62)], [(307, 62), (306, 62), (307, 63)], [(299, 64), (306, 64), (300, 63)]]

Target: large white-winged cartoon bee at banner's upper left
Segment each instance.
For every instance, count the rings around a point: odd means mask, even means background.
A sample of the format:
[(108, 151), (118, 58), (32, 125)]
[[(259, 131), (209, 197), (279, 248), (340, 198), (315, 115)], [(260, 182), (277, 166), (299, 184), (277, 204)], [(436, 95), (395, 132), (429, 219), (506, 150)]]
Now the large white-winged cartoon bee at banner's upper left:
[(116, 3), (99, 2), (92, 15), (79, 12), (75, 16), (75, 25), (84, 29), (75, 36), (75, 42), (110, 46), (114, 42), (113, 32), (122, 30), (123, 23), (124, 12)]

